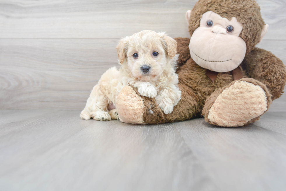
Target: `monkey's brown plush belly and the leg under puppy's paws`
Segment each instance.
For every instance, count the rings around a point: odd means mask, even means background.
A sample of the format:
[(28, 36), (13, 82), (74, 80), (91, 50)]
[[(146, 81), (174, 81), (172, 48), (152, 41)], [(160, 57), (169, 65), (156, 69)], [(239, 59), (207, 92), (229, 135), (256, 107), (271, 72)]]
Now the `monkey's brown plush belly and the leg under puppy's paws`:
[[(158, 124), (184, 121), (201, 116), (205, 99), (215, 90), (229, 85), (233, 81), (231, 72), (218, 73), (214, 82), (205, 73), (206, 69), (198, 66), (191, 58), (181, 67), (178, 71), (178, 86), (182, 91), (182, 96), (171, 114), (164, 114), (155, 99), (142, 96), (145, 105), (144, 122)], [(246, 77), (245, 72), (244, 77)]]

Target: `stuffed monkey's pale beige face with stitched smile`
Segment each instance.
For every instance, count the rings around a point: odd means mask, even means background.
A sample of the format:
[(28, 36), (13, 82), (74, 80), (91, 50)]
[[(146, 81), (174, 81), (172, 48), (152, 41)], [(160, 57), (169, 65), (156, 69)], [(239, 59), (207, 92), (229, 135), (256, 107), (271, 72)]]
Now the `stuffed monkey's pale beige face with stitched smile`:
[(227, 72), (236, 69), (246, 52), (246, 44), (239, 37), (242, 29), (235, 17), (228, 20), (207, 11), (200, 20), (200, 27), (191, 36), (189, 48), (192, 59), (211, 71)]

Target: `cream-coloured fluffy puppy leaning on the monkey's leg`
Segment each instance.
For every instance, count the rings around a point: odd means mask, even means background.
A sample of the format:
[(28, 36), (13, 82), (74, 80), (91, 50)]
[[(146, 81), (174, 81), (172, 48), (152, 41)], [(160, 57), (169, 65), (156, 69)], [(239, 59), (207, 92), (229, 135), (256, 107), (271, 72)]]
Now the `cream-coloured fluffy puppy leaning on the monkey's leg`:
[(110, 68), (101, 76), (80, 117), (100, 121), (119, 119), (116, 98), (129, 84), (137, 87), (142, 96), (155, 97), (164, 113), (171, 113), (181, 99), (175, 73), (176, 41), (165, 33), (141, 31), (122, 38), (116, 49), (121, 68)]

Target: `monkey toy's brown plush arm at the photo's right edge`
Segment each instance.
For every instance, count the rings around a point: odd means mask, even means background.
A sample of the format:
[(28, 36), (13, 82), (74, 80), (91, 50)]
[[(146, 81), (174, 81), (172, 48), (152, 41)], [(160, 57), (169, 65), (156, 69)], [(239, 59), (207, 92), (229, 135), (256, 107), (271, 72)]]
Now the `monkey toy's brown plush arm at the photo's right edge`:
[(266, 50), (255, 48), (244, 59), (248, 76), (264, 83), (272, 94), (272, 100), (283, 93), (286, 70), (283, 62)]

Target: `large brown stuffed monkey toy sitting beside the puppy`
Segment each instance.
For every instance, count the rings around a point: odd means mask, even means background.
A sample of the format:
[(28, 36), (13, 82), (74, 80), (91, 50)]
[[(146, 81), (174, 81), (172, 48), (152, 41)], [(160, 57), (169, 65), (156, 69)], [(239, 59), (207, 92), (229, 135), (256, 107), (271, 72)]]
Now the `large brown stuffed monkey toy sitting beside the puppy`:
[(166, 115), (155, 98), (125, 86), (116, 102), (120, 120), (158, 124), (204, 116), (222, 127), (259, 120), (283, 93), (285, 65), (256, 48), (268, 30), (254, 0), (199, 0), (186, 13), (191, 38), (176, 38), (179, 103)]

